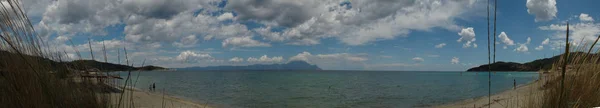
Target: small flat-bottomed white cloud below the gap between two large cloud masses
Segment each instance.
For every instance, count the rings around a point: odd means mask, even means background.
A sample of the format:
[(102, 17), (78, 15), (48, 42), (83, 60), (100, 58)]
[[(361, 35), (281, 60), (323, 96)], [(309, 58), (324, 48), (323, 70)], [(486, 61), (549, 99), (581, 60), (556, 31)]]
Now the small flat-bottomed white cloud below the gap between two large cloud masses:
[(223, 47), (270, 47), (271, 44), (253, 40), (252, 37), (231, 37), (223, 40)]

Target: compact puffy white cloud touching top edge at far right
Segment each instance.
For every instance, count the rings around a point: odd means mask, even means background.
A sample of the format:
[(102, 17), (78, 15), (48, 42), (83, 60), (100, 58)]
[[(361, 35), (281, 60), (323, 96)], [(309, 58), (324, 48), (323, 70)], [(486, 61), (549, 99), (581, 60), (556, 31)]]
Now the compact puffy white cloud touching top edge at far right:
[(527, 13), (535, 16), (535, 21), (549, 21), (556, 17), (556, 0), (527, 0)]

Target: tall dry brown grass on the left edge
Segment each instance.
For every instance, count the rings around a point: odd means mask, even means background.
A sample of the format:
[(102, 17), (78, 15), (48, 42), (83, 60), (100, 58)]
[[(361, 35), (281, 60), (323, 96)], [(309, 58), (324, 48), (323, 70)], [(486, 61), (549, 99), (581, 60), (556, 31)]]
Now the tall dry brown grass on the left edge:
[(0, 4), (0, 105), (5, 108), (105, 108), (106, 95), (88, 80), (76, 81), (36, 35), (18, 0)]

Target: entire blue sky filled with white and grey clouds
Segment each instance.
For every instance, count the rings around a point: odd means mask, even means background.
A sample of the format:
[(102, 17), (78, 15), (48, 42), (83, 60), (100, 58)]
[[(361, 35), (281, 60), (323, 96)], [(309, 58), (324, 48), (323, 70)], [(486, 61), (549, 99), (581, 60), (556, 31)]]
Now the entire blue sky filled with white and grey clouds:
[[(487, 64), (487, 0), (23, 0), (69, 60), (139, 66), (277, 64), (326, 70), (464, 71)], [(500, 0), (496, 60), (529, 62), (600, 34), (597, 0)], [(594, 12), (596, 10), (596, 12)], [(493, 24), (493, 22), (491, 22)], [(490, 39), (491, 40), (491, 39)], [(492, 41), (493, 43), (493, 41)], [(564, 50), (564, 49), (563, 49)], [(120, 59), (119, 59), (120, 58)]]

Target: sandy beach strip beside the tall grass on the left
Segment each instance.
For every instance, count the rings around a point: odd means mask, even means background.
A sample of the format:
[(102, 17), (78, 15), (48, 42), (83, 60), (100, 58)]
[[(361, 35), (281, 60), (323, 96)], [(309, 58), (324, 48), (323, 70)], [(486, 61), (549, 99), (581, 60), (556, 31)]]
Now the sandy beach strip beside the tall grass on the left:
[[(133, 91), (133, 101), (130, 101)], [(163, 95), (160, 92), (148, 92), (135, 89), (126, 89), (121, 99), (121, 107), (127, 108), (210, 108), (209, 105), (193, 102), (173, 96)], [(109, 93), (112, 106), (118, 106), (121, 93)], [(163, 98), (164, 97), (164, 98)], [(133, 104), (131, 104), (133, 102)]]

